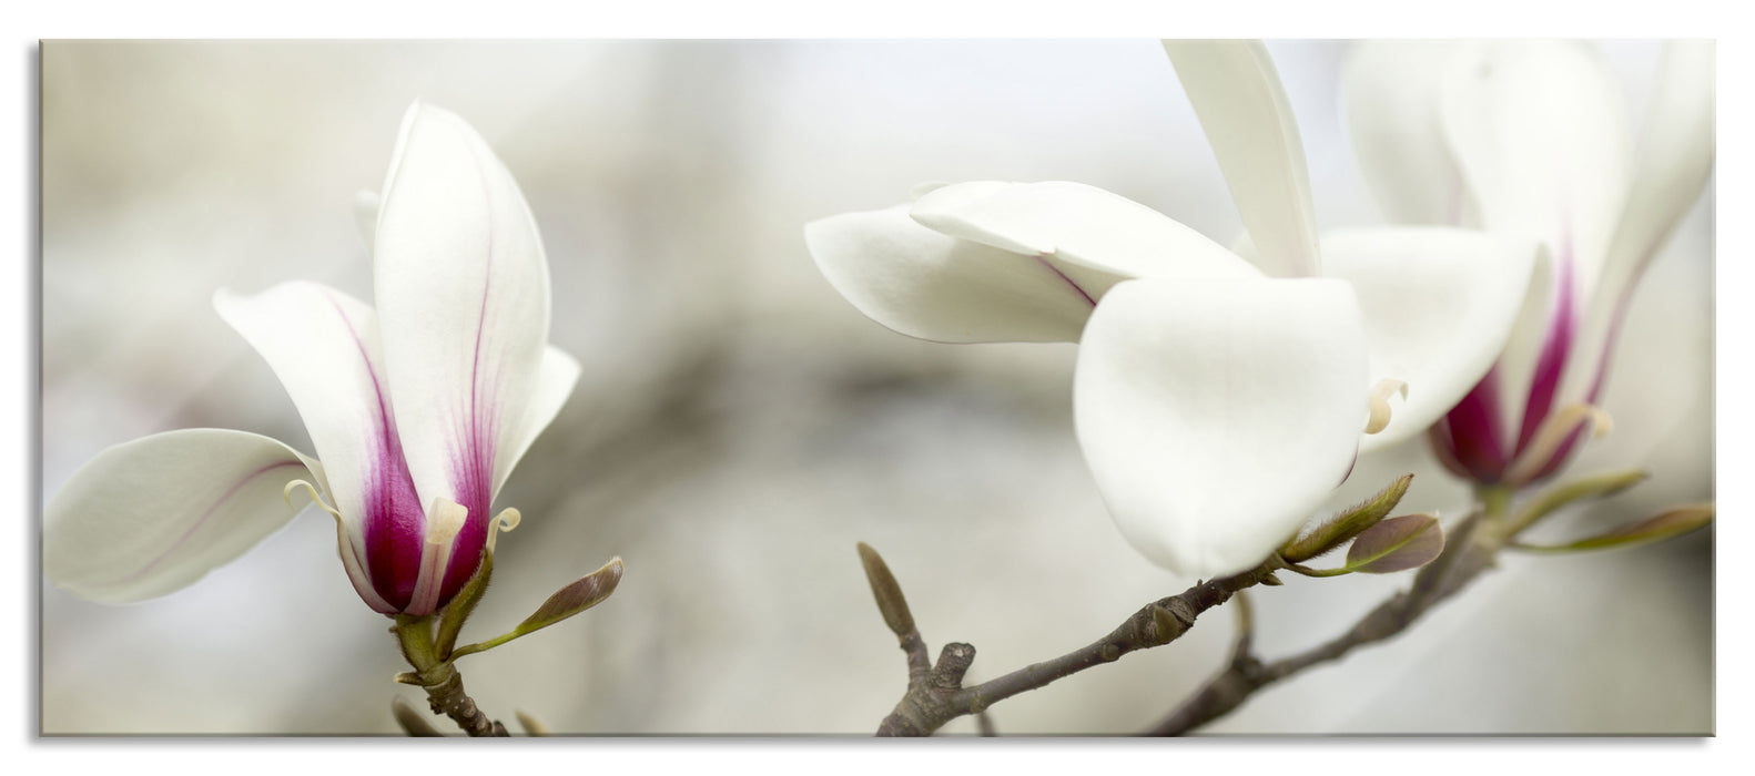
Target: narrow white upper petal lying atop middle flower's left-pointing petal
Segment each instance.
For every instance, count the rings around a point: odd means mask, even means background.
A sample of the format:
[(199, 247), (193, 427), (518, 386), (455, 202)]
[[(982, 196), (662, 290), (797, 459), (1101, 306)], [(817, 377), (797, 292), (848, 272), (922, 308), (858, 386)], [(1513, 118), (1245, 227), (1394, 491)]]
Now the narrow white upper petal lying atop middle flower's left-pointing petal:
[(958, 183), (923, 193), (909, 216), (951, 237), (1042, 256), (1081, 283), (1086, 270), (1113, 279), (1260, 277), (1200, 232), (1083, 183)]

